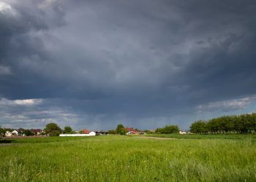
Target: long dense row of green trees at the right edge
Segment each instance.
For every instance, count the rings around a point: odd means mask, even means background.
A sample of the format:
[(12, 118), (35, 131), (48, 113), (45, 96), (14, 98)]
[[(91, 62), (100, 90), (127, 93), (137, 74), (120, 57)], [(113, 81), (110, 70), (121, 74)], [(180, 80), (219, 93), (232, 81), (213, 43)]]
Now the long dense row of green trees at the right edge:
[(208, 121), (199, 120), (190, 126), (190, 132), (199, 134), (256, 132), (256, 113), (238, 116), (221, 116)]

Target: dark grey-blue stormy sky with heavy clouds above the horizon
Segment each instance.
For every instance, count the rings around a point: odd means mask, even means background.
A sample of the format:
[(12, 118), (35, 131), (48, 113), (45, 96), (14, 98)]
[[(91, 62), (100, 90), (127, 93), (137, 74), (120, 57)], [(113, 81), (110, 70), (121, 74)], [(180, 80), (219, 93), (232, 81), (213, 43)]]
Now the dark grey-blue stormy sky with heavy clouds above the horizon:
[(255, 0), (0, 0), (0, 125), (155, 129), (256, 111)]

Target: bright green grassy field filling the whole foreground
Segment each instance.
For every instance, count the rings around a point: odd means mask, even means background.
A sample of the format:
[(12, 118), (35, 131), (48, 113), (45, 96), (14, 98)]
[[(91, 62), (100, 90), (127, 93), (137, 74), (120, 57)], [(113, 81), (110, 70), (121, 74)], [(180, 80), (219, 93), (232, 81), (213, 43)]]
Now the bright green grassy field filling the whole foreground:
[(0, 181), (256, 181), (255, 135), (165, 137), (0, 140)]

